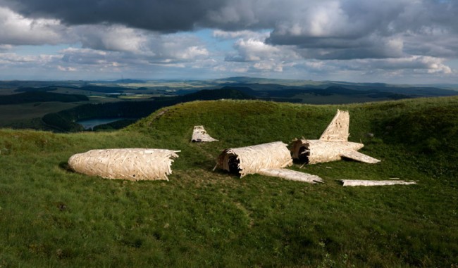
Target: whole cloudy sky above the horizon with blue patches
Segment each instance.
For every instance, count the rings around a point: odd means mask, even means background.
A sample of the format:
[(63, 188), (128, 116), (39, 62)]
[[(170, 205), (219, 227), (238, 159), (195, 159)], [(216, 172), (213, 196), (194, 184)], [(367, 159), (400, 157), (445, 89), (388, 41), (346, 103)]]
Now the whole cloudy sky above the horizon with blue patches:
[(0, 0), (0, 80), (458, 84), (456, 0)]

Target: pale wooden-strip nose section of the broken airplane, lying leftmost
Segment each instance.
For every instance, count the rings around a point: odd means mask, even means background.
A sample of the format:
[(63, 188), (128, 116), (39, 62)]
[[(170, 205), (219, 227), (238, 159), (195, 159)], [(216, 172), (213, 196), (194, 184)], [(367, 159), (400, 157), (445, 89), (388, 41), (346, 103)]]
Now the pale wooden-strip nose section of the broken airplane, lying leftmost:
[(173, 158), (180, 151), (123, 148), (91, 150), (72, 155), (68, 165), (75, 172), (106, 179), (131, 181), (163, 179), (172, 173)]

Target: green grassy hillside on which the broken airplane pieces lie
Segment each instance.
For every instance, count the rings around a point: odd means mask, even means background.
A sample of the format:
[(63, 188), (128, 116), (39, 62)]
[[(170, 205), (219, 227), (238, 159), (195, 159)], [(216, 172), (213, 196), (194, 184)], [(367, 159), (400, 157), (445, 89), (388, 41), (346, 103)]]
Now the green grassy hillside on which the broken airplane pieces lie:
[[(224, 148), (318, 138), (337, 108), (350, 112), (350, 140), (382, 162), (304, 167), (326, 181), (319, 185), (212, 171)], [(118, 132), (2, 129), (0, 266), (454, 267), (457, 112), (457, 97), (347, 106), (196, 101)], [(190, 143), (194, 125), (220, 141)], [(181, 150), (170, 181), (66, 170), (74, 153), (126, 147)], [(418, 184), (338, 181), (390, 177)]]

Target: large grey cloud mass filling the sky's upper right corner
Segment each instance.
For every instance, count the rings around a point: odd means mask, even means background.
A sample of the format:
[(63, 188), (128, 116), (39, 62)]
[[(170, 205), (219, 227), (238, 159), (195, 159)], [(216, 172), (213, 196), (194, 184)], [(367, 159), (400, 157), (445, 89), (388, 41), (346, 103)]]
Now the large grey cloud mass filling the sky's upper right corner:
[(323, 1), (278, 23), (266, 42), (316, 49), (311, 58), (456, 57), (457, 13), (458, 1)]

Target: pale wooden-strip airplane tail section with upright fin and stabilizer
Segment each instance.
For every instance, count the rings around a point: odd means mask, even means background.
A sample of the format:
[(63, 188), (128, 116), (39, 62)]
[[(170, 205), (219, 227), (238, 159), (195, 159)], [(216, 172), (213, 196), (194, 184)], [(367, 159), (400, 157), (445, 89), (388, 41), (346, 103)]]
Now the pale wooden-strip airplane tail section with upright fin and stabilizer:
[(330, 162), (340, 160), (342, 157), (370, 164), (380, 162), (376, 158), (358, 152), (364, 145), (348, 141), (348, 127), (348, 111), (338, 110), (320, 139), (299, 139), (292, 143), (292, 158), (307, 164)]

